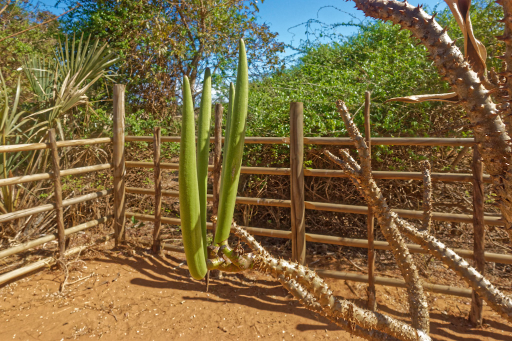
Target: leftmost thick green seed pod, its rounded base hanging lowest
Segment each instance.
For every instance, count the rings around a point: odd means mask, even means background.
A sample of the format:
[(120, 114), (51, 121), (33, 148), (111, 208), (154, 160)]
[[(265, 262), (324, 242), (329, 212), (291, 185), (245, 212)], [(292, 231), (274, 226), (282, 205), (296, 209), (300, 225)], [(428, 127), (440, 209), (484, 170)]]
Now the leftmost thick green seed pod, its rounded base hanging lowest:
[(183, 77), (183, 116), (181, 119), (180, 168), (180, 218), (183, 246), (190, 275), (197, 280), (206, 275), (206, 245), (201, 231), (199, 188), (196, 166), (196, 129), (194, 102), (190, 83)]

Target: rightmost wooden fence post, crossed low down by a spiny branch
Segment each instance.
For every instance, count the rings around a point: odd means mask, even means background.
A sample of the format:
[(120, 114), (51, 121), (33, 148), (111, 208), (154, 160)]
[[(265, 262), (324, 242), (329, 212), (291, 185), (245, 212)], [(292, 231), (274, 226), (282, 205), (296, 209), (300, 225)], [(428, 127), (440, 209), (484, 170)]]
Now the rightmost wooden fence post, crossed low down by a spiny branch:
[[(473, 147), (473, 163), (471, 168), (473, 172), (473, 259), (475, 260), (475, 268), (483, 275), (485, 270), (483, 167), (482, 158), (478, 152), (477, 146)], [(470, 322), (477, 327), (482, 326), (482, 309), (482, 298), (473, 290), (471, 296)]]

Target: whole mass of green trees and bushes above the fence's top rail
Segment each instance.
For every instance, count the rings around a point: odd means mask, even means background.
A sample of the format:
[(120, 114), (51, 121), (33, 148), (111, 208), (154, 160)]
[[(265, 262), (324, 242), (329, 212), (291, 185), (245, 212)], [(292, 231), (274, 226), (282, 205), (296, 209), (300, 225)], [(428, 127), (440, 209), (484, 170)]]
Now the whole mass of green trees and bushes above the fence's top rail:
[[(0, 9), (5, 4), (6, 1), (0, 1)], [(69, 2), (69, 5), (75, 4)], [(187, 75), (194, 84), (201, 81), (204, 69), (209, 66), (214, 88), (220, 88), (234, 73), (236, 41), (244, 36), (252, 73), (248, 135), (287, 136), (291, 101), (305, 104), (306, 135), (343, 135), (335, 100), (345, 100), (349, 109), (358, 113), (366, 90), (372, 92), (374, 135), (423, 135), (439, 129), (446, 133), (461, 116), (457, 109), (444, 103), (383, 104), (396, 96), (449, 91), (425, 58), (425, 49), (416, 46), (408, 33), (399, 31), (398, 27), (368, 20), (355, 25), (358, 33), (347, 38), (325, 34), (331, 37), (331, 43), (304, 43), (300, 57), (287, 69), (281, 69), (276, 53), (281, 51), (282, 44), (266, 25), (255, 21), (257, 11), (255, 1), (216, 4), (191, 1), (174, 6), (165, 0), (87, 0), (59, 21), (0, 42), (5, 53), (0, 66), (8, 88), (15, 87), (18, 76), (22, 79), (20, 109), (33, 110), (34, 105), (39, 109), (55, 107), (52, 103), (59, 100), (55, 96), (47, 98), (44, 106), (40, 105), (49, 93), (45, 96), (37, 93), (37, 84), (31, 80), (34, 75), (28, 72), (28, 67), (25, 77), (13, 68), (23, 64), (23, 56), (35, 54), (46, 56), (40, 62), (48, 65), (52, 59), (61, 60), (62, 64), (65, 58), (55, 53), (60, 46), (59, 36), (63, 41), (62, 34), (66, 32), (84, 32), (85, 37), (92, 34), (100, 38), (99, 46), (108, 42), (118, 57), (111, 67), (118, 74), (115, 81), (129, 85), (127, 132), (148, 134), (153, 126), (161, 125), (163, 134), (177, 134), (179, 124), (173, 113), (179, 112), (181, 92), (176, 89), (181, 86), (182, 76)], [(501, 27), (494, 23), (500, 15), (500, 6), (492, 2), (473, 2), (474, 31), (488, 47), (489, 56), (499, 55), (503, 50), (503, 44), (495, 38)], [(25, 2), (11, 2), (0, 18), (3, 22), (0, 39), (49, 17), (48, 12), (38, 11)], [(460, 35), (448, 10), (441, 12), (437, 19), (441, 25), (451, 27), (452, 37)], [(462, 39), (458, 44), (463, 45)], [(78, 49), (80, 43), (72, 45)], [(31, 60), (37, 61), (33, 57)], [(499, 62), (489, 57), (489, 70)], [(55, 69), (48, 65), (42, 66)], [(36, 66), (33, 64), (32, 69), (37, 69)], [(62, 73), (59, 77), (64, 79), (66, 75)], [(61, 134), (67, 138), (89, 137), (104, 131), (108, 134), (111, 84), (106, 80), (84, 85), (83, 94), (79, 94), (83, 101), (67, 110), (68, 124), (63, 127), (67, 131)], [(192, 90), (193, 97), (200, 94), (194, 85)], [(225, 91), (227, 94), (227, 87)], [(6, 93), (10, 92), (6, 89)], [(47, 116), (56, 117), (56, 110), (60, 109), (53, 109)], [(362, 116), (356, 115), (356, 121), (361, 123), (361, 120)]]

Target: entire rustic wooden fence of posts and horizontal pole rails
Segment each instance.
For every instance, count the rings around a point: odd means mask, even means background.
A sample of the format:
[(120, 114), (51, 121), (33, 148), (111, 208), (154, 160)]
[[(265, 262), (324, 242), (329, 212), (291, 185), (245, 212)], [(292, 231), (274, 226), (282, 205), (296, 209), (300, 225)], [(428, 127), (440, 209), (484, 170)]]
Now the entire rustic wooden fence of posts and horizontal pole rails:
[[(113, 138), (101, 138), (101, 139), (87, 139), (87, 140), (75, 140), (75, 141), (62, 141), (55, 142), (52, 138), (53, 134), (49, 134), (49, 142), (47, 143), (33, 143), (26, 145), (13, 145), (13, 146), (0, 146), (0, 153), (23, 151), (23, 150), (37, 150), (37, 149), (51, 149), (53, 157), (53, 172), (18, 176), (7, 179), (0, 179), (0, 186), (10, 186), (15, 184), (25, 183), (27, 181), (37, 180), (48, 180), (53, 179), (55, 183), (55, 192), (60, 191), (60, 180), (61, 176), (84, 174), (93, 171), (100, 171), (106, 169), (113, 169), (114, 172), (114, 184), (113, 188), (109, 190), (99, 191), (87, 195), (74, 197), (71, 199), (62, 200), (61, 196), (55, 195), (55, 202), (39, 206), (36, 208), (30, 208), (22, 211), (12, 212), (8, 214), (0, 215), (0, 222), (6, 222), (9, 220), (26, 217), (42, 212), (48, 212), (54, 210), (57, 216), (57, 231), (55, 234), (45, 236), (32, 240), (22, 245), (14, 246), (3, 251), (0, 251), (0, 258), (11, 256), (37, 245), (41, 245), (51, 240), (57, 239), (59, 241), (59, 252), (60, 254), (76, 253), (80, 250), (77, 248), (66, 251), (63, 240), (66, 236), (83, 231), (85, 229), (96, 226), (100, 223), (107, 223), (111, 219), (114, 220), (114, 236), (116, 245), (122, 243), (125, 238), (124, 225), (126, 218), (135, 218), (141, 221), (155, 222), (155, 230), (153, 234), (153, 250), (158, 251), (160, 247), (164, 249), (172, 249), (174, 251), (183, 251), (180, 246), (173, 246), (168, 244), (160, 245), (160, 226), (164, 224), (179, 225), (180, 220), (177, 218), (164, 217), (161, 210), (162, 196), (178, 198), (177, 191), (162, 190), (161, 183), (161, 171), (162, 170), (178, 170), (178, 164), (174, 163), (161, 163), (160, 162), (160, 146), (161, 143), (167, 142), (180, 142), (179, 137), (162, 137), (160, 129), (155, 128), (154, 136), (125, 136), (124, 135), (124, 86), (116, 85), (114, 87), (114, 129)], [(392, 146), (463, 146), (467, 151), (468, 148), (473, 148), (475, 142), (473, 139), (462, 139), (462, 138), (372, 138), (369, 139), (369, 117), (370, 117), (370, 98), (369, 94), (366, 96), (365, 105), (365, 126), (367, 141), (371, 145), (392, 145)], [(216, 105), (215, 110), (216, 127), (215, 136), (211, 138), (210, 142), (215, 143), (215, 146), (220, 146), (222, 136), (220, 133), (220, 124), (222, 122), (222, 106)], [(153, 142), (154, 144), (154, 161), (153, 162), (137, 162), (137, 161), (125, 161), (124, 160), (124, 146), (126, 142)], [(112, 143), (113, 144), (113, 159), (112, 163), (102, 164), (89, 167), (81, 167), (68, 170), (60, 170), (58, 168), (58, 156), (56, 153), (57, 148), (67, 146), (79, 146), (79, 145), (91, 145), (100, 143)], [(291, 210), (291, 229), (289, 231), (273, 230), (254, 228), (245, 226), (249, 233), (259, 236), (275, 237), (290, 239), (292, 243), (292, 257), (294, 260), (304, 264), (306, 259), (306, 242), (326, 243), (342, 246), (351, 247), (362, 247), (367, 248), (369, 253), (369, 271), (368, 275), (353, 274), (350, 272), (343, 271), (332, 271), (332, 270), (317, 270), (319, 274), (324, 277), (330, 277), (335, 279), (343, 279), (355, 282), (369, 283), (369, 303), (370, 307), (374, 308), (375, 304), (375, 289), (374, 285), (388, 285), (394, 287), (405, 287), (405, 282), (400, 279), (392, 279), (385, 277), (375, 276), (374, 273), (374, 250), (382, 249), (388, 250), (390, 246), (385, 241), (374, 241), (373, 240), (373, 215), (371, 210), (366, 206), (355, 206), (339, 203), (328, 203), (328, 202), (315, 202), (306, 201), (304, 198), (304, 177), (305, 176), (317, 176), (317, 177), (347, 177), (341, 170), (325, 170), (325, 169), (305, 169), (304, 168), (304, 145), (331, 145), (331, 146), (350, 146), (352, 145), (348, 138), (308, 138), (303, 135), (303, 106), (302, 103), (291, 103), (290, 105), (290, 137), (246, 137), (246, 144), (287, 144), (290, 145), (290, 167), (242, 167), (242, 173), (245, 174), (261, 174), (261, 175), (286, 175), (290, 176), (291, 180), (291, 197), (290, 200), (283, 199), (269, 199), (269, 198), (251, 198), (251, 197), (237, 197), (237, 203), (239, 204), (250, 204), (260, 206), (273, 206), (290, 208)], [(218, 154), (218, 153), (216, 153)], [(455, 251), (462, 257), (468, 259), (475, 259), (477, 267), (480, 271), (483, 271), (483, 264), (485, 261), (512, 264), (512, 256), (495, 254), (495, 253), (484, 253), (484, 224), (491, 226), (500, 226), (503, 223), (499, 217), (486, 216), (483, 210), (483, 197), (482, 197), (482, 184), (489, 183), (490, 178), (488, 175), (483, 175), (482, 164), (478, 153), (476, 152), (473, 156), (472, 173), (469, 174), (452, 174), (452, 173), (432, 173), (433, 181), (443, 182), (466, 182), (473, 183), (474, 187), (474, 214), (454, 214), (454, 213), (443, 213), (433, 212), (432, 219), (437, 221), (448, 221), (448, 222), (460, 222), (460, 223), (471, 223), (474, 226), (475, 244), (473, 250), (467, 249), (456, 249)], [(125, 184), (125, 169), (126, 168), (153, 168), (155, 176), (155, 188), (144, 189), (134, 188), (126, 186)], [(214, 171), (214, 166), (209, 167), (210, 171)], [(216, 172), (220, 171), (217, 167)], [(217, 176), (215, 176), (217, 175)], [(373, 176), (378, 179), (403, 179), (403, 180), (421, 180), (422, 174), (420, 172), (393, 172), (393, 171), (374, 171)], [(214, 174), (214, 179), (218, 181), (218, 174)], [(216, 187), (214, 184), (214, 188)], [(125, 195), (129, 194), (144, 194), (155, 196), (155, 215), (140, 214), (136, 212), (126, 211), (125, 208)], [(61, 221), (61, 209), (63, 207), (70, 206), (79, 202), (85, 202), (88, 200), (114, 195), (114, 213), (112, 215), (104, 216), (100, 219), (95, 219), (87, 223), (83, 223), (77, 226), (73, 226), (68, 229), (64, 229)], [(213, 195), (208, 195), (208, 200), (213, 200)], [(305, 214), (306, 210), (321, 210), (330, 212), (340, 213), (353, 213), (366, 215), (368, 217), (368, 239), (354, 239), (344, 238), (335, 236), (326, 236), (311, 234), (306, 232), (305, 228)], [(394, 210), (399, 216), (404, 218), (421, 219), (423, 216), (422, 211), (415, 210)], [(59, 222), (60, 221), (60, 222)], [(208, 229), (212, 229), (211, 223), (207, 224)], [(425, 251), (419, 246), (414, 244), (408, 244), (408, 247), (412, 253), (422, 253)], [(83, 248), (83, 247), (82, 247)], [(47, 260), (48, 261), (48, 260)], [(35, 264), (35, 263), (34, 263)], [(36, 268), (45, 266), (39, 264), (31, 264), (28, 267), (8, 272), (7, 274), (0, 275), (0, 284), (5, 283), (13, 278), (27, 274)], [(38, 266), (38, 267), (37, 267)], [(451, 287), (446, 285), (424, 283), (425, 290), (432, 292), (439, 292), (450, 295), (457, 295), (460, 297), (473, 297), (473, 305), (477, 304), (477, 298), (471, 289)], [(480, 307), (481, 311), (481, 307)]]

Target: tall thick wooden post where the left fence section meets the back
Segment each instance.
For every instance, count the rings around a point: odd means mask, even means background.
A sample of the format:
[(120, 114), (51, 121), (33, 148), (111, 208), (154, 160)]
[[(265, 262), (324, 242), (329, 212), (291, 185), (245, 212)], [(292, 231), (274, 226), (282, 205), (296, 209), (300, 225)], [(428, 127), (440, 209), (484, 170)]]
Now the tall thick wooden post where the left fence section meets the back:
[(112, 163), (114, 165), (114, 238), (116, 246), (123, 243), (124, 232), (124, 88), (123, 84), (114, 85), (114, 150)]

